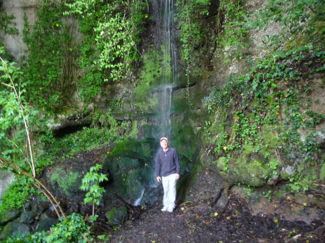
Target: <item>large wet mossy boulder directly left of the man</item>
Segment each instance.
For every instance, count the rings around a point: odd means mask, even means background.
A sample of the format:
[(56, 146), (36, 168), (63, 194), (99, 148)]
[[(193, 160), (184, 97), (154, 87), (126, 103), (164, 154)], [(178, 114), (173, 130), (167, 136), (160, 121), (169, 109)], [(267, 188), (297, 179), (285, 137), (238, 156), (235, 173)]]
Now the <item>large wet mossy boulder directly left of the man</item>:
[(154, 183), (156, 148), (154, 139), (125, 140), (117, 144), (103, 164), (110, 175), (106, 189), (130, 202), (139, 198), (143, 189)]

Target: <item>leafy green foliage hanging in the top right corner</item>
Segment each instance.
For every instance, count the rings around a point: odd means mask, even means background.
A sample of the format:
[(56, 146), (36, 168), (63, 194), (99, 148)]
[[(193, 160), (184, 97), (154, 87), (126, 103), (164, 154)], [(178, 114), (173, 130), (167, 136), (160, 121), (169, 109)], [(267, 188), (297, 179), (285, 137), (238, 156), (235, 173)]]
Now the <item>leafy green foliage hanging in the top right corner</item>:
[[(282, 27), (279, 34), (269, 36), (276, 48), (299, 45), (302, 40), (318, 45), (325, 33), (325, 3), (322, 0), (272, 0), (254, 14), (248, 26), (268, 29), (272, 23)], [(289, 42), (288, 36), (291, 36)]]

